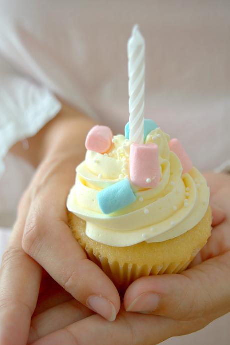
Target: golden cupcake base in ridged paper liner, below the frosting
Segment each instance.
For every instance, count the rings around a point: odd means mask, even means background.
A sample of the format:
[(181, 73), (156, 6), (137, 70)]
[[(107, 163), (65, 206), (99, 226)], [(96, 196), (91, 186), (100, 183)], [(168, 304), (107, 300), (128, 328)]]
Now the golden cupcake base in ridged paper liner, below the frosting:
[(211, 208), (201, 221), (186, 233), (163, 242), (141, 242), (129, 247), (112, 247), (90, 239), (85, 221), (69, 213), (74, 237), (88, 257), (99, 265), (121, 291), (135, 279), (163, 273), (184, 271), (211, 234)]

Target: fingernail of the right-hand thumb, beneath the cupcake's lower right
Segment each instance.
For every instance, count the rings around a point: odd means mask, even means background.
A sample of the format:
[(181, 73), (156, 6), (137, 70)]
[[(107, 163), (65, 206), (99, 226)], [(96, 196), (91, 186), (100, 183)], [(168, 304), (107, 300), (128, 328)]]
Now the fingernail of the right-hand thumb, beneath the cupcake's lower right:
[(144, 293), (126, 308), (127, 312), (149, 313), (153, 312), (159, 304), (159, 295), (154, 293)]

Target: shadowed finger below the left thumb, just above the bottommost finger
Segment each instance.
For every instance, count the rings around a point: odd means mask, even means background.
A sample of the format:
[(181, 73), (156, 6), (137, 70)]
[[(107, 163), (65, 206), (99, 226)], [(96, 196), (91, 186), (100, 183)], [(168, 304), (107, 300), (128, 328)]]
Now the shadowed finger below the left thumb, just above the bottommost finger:
[(28, 343), (64, 328), (81, 319), (87, 318), (93, 312), (76, 300), (61, 303), (32, 318)]

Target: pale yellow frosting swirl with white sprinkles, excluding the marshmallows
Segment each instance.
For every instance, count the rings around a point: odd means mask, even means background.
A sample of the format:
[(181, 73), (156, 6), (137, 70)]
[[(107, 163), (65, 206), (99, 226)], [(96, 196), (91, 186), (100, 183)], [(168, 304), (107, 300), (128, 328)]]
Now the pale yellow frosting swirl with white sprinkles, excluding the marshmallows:
[(109, 215), (100, 210), (97, 193), (129, 176), (130, 141), (116, 135), (107, 154), (87, 151), (76, 169), (67, 208), (86, 221), (88, 237), (118, 247), (161, 242), (185, 233), (203, 218), (209, 204), (206, 180), (194, 167), (182, 174), (180, 160), (169, 149), (169, 139), (159, 128), (146, 138), (159, 149), (161, 179), (157, 187), (132, 185), (136, 201)]

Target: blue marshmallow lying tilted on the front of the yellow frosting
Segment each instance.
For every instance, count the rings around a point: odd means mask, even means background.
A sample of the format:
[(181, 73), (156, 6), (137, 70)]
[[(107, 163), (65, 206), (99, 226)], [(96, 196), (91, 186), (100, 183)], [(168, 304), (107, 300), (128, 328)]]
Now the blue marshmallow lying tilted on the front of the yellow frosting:
[(102, 189), (97, 193), (97, 201), (105, 214), (115, 212), (136, 200), (131, 184), (127, 178)]

